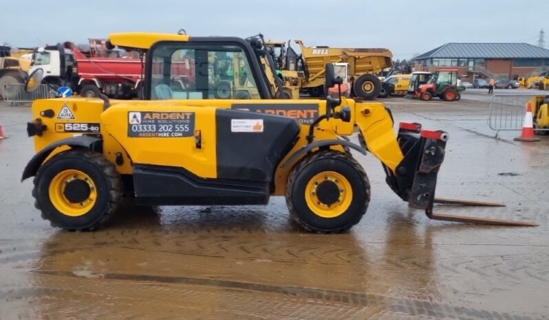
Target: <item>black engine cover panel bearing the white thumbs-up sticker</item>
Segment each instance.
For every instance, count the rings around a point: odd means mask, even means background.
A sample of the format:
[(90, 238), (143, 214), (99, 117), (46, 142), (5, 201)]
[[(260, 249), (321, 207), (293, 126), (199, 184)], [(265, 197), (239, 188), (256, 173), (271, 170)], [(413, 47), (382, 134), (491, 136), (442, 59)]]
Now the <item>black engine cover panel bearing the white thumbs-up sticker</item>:
[[(272, 181), (277, 165), (297, 141), (296, 120), (223, 108), (217, 109), (215, 117), (219, 179)], [(262, 120), (263, 132), (235, 132), (232, 122), (238, 119)]]

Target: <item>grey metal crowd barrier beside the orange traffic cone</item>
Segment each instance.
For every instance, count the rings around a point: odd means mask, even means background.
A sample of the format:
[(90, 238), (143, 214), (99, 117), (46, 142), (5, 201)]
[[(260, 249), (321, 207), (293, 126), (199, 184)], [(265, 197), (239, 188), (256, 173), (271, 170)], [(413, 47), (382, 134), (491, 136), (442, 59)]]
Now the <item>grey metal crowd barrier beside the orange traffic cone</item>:
[[(537, 96), (539, 95), (529, 93), (493, 95), (490, 101), (488, 125), (492, 130), (497, 132), (522, 130), (524, 116), (526, 115), (526, 106), (528, 102), (535, 103)], [(532, 110), (533, 108), (534, 106), (532, 105)]]

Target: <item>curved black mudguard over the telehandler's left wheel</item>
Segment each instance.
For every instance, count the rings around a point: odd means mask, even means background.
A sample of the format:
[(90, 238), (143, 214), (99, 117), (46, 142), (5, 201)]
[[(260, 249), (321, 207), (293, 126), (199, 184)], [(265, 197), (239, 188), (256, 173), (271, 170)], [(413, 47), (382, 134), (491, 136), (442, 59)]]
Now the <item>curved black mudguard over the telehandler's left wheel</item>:
[(32, 159), (30, 159), (29, 163), (27, 163), (27, 166), (25, 167), (25, 170), (23, 170), (23, 176), (21, 176), (21, 181), (24, 181), (31, 176), (35, 176), (36, 172), (38, 172), (38, 169), (40, 168), (44, 160), (56, 148), (59, 148), (61, 146), (69, 146), (72, 148), (80, 147), (87, 148), (89, 150), (100, 151), (102, 146), (101, 141), (102, 140), (98, 137), (91, 137), (88, 135), (81, 135), (78, 137), (71, 137), (56, 141), (53, 144), (50, 144), (49, 146), (40, 150), (40, 152), (36, 153), (36, 155), (34, 155)]

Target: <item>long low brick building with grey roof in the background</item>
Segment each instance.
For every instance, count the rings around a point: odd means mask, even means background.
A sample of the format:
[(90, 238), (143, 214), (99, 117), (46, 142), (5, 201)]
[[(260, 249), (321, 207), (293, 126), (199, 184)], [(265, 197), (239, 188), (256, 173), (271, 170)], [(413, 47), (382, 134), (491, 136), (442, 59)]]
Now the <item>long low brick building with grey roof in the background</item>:
[(446, 43), (412, 58), (416, 70), (455, 67), (463, 80), (517, 79), (549, 69), (549, 50), (528, 43)]

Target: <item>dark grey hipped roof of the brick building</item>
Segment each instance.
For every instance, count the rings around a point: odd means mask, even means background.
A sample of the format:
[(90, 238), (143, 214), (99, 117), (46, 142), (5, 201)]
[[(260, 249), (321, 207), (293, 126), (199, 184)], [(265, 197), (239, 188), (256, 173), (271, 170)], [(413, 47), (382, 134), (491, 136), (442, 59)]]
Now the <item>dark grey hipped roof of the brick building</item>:
[(412, 60), (427, 58), (549, 58), (549, 50), (528, 43), (446, 43)]

